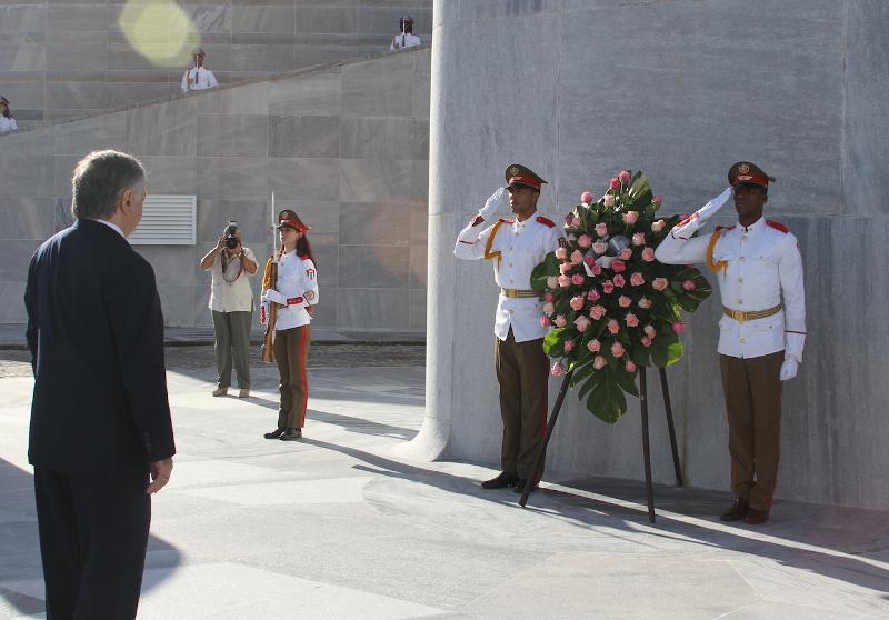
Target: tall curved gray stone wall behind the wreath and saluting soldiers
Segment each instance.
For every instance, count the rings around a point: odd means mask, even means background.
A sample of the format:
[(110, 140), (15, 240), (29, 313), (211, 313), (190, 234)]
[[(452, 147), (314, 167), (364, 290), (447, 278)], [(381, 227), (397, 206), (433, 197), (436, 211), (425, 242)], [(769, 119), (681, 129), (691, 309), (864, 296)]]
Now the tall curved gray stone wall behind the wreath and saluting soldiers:
[[(505, 164), (550, 180), (545, 209), (562, 213), (615, 171), (641, 169), (673, 213), (719, 193), (729, 166), (750, 159), (778, 178), (767, 213), (797, 234), (807, 278), (809, 337), (800, 377), (785, 386), (778, 494), (889, 508), (887, 23), (879, 0), (751, 0), (742, 11), (728, 0), (438, 2), (428, 400), (416, 449), (498, 459), (496, 289), (490, 266), (451, 252)], [(726, 489), (717, 299), (691, 319), (688, 356), (668, 374), (689, 483)], [(671, 482), (651, 388), (655, 476)], [(573, 394), (566, 402), (552, 476), (642, 477), (638, 402), (613, 427)]]

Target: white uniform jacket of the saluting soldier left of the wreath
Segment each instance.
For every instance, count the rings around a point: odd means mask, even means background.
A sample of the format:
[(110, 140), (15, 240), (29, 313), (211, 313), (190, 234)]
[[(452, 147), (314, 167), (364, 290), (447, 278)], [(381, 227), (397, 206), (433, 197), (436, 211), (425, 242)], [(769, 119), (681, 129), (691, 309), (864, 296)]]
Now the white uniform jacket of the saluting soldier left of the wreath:
[(511, 327), (516, 342), (543, 338), (549, 328), (540, 324), (543, 316), (540, 299), (508, 298), (503, 289), (530, 290), (531, 271), (559, 247), (565, 233), (537, 213), (522, 222), (501, 219), (487, 228), (479, 220), (476, 218), (460, 231), (453, 256), (463, 260), (485, 258), (493, 262), (493, 279), (501, 289), (495, 314), (495, 334), (506, 340)]

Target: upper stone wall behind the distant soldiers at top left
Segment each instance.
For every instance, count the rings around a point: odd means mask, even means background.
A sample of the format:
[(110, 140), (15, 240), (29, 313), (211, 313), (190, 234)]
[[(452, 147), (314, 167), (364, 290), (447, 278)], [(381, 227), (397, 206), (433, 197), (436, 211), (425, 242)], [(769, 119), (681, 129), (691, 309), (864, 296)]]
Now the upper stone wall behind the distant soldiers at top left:
[[(147, 7), (156, 12), (138, 20)], [(432, 0), (0, 0), (0, 93), (24, 127), (178, 94), (187, 63), (138, 53), (124, 33), (136, 23), (147, 52), (164, 54), (171, 33), (190, 22), (184, 49), (203, 47), (207, 67), (228, 84), (378, 54), (406, 12), (428, 43), (431, 7)]]

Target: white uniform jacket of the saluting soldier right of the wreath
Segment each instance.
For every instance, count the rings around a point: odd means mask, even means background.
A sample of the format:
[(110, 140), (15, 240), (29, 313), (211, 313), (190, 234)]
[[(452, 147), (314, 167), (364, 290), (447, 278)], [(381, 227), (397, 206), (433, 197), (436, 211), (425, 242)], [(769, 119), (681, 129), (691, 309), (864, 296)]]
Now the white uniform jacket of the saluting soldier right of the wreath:
[[(706, 261), (710, 236), (690, 238), (699, 226), (690, 222), (673, 228), (655, 257), (669, 264)], [(728, 263), (711, 272), (726, 308), (751, 312), (783, 304), (780, 312), (765, 319), (737, 321), (723, 314), (718, 351), (733, 358), (758, 358), (783, 350), (785, 358), (802, 362), (806, 299), (797, 238), (782, 224), (760, 218), (747, 228), (737, 224), (722, 230), (712, 260)]]

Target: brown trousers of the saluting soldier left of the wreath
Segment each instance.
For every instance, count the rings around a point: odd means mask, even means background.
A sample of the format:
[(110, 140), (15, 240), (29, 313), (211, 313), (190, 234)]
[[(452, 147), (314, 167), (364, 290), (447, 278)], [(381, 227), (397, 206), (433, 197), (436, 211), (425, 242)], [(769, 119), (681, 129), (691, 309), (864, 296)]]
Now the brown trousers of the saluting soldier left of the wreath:
[(537, 482), (542, 464), (532, 470), (547, 432), (549, 359), (543, 339), (516, 342), (510, 329), (506, 340), (495, 339), (495, 367), (503, 418), (500, 466), (510, 476)]

